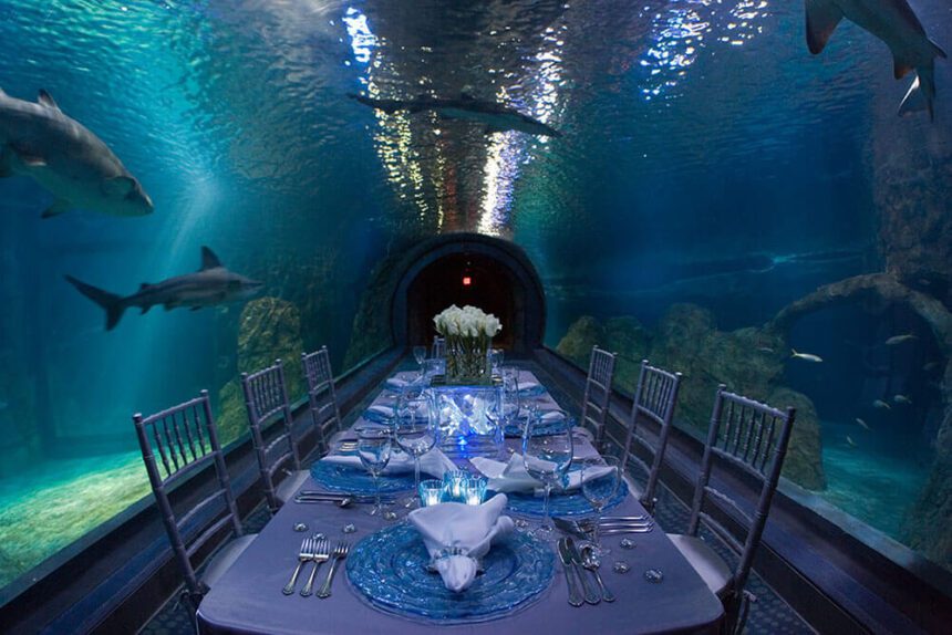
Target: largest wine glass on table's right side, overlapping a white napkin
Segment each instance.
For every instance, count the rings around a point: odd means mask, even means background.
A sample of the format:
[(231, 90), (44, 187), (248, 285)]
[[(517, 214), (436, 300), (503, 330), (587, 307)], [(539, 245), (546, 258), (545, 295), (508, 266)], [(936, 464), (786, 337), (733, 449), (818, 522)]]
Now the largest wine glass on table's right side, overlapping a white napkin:
[(542, 421), (538, 413), (530, 416), (522, 433), (522, 462), (529, 476), (542, 481), (546, 487), (542, 523), (532, 532), (536, 538), (547, 539), (552, 535), (555, 528), (549, 518), (549, 496), (553, 487), (565, 483), (572, 464), (572, 427), (568, 417)]

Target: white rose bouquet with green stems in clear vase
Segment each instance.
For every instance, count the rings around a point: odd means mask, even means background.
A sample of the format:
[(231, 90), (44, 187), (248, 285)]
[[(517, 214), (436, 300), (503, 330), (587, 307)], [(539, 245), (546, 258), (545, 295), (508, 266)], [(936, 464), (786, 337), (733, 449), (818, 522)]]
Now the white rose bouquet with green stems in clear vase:
[(476, 306), (461, 309), (453, 304), (435, 315), (433, 324), (446, 339), (446, 383), (488, 383), (486, 353), (493, 337), (503, 330), (499, 319)]

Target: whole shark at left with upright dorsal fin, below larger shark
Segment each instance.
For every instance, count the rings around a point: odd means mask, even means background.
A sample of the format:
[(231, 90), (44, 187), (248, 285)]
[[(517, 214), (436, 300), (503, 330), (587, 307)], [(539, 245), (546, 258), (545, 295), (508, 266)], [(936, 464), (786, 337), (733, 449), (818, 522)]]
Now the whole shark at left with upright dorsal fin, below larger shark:
[(263, 282), (225, 269), (218, 257), (207, 247), (201, 248), (201, 268), (195, 273), (176, 275), (155, 284), (143, 282), (137, 292), (125, 298), (96, 289), (72, 275), (66, 275), (66, 280), (80, 293), (105, 310), (106, 331), (112, 331), (118, 324), (122, 314), (130, 306), (138, 306), (143, 313), (147, 313), (156, 304), (162, 304), (166, 311), (177, 306), (198, 311), (203, 306), (247, 300), (263, 287)]

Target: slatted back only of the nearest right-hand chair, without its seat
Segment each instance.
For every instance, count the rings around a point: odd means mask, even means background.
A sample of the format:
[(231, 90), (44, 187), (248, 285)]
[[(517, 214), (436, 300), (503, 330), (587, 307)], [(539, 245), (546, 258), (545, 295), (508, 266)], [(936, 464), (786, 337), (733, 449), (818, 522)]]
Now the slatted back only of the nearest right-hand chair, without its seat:
[[(754, 555), (760, 544), (774, 492), (780, 479), (780, 469), (787, 455), (787, 446), (790, 443), (795, 418), (795, 408), (787, 408), (786, 412), (778, 410), (766, 404), (728, 393), (724, 385), (717, 388), (714, 410), (711, 415), (711, 428), (707, 431), (707, 444), (704, 446), (704, 457), (701, 460), (701, 473), (694, 490), (687, 533), (697, 535), (703, 521), (737, 553), (739, 561), (734, 570), (732, 585), (735, 598), (739, 597), (744, 590), (754, 563)], [(714, 457), (741, 468), (760, 481), (760, 493), (753, 517), (745, 512), (737, 501), (710, 483)], [(726, 503), (732, 508), (734, 516), (746, 529), (747, 537), (743, 543), (704, 511), (704, 503), (708, 499)]]

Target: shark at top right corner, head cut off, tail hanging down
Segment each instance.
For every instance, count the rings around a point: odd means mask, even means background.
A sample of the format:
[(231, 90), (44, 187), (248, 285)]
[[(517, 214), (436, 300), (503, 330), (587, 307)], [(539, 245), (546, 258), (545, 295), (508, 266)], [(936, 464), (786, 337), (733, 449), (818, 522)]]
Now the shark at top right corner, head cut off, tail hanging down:
[(869, 31), (892, 51), (897, 80), (915, 70), (899, 114), (925, 110), (934, 119), (935, 58), (945, 52), (925, 34), (925, 29), (906, 0), (806, 0), (807, 46), (818, 54), (844, 18)]

